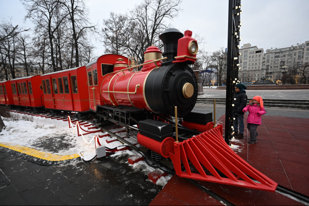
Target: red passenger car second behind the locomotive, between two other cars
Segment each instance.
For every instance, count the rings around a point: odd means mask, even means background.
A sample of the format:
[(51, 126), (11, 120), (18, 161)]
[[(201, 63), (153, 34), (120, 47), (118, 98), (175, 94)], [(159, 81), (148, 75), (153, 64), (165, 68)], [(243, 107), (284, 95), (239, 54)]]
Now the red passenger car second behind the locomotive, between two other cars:
[(43, 107), (44, 97), (40, 80), (41, 77), (39, 75), (11, 80), (14, 105)]

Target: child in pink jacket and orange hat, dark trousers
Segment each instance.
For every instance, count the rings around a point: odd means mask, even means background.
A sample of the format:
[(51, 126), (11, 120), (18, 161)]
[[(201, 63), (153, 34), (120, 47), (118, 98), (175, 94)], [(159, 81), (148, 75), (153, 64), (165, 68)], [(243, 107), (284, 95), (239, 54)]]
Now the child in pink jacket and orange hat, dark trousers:
[(242, 112), (249, 112), (247, 118), (247, 128), (250, 131), (250, 142), (249, 144), (257, 143), (257, 127), (262, 124), (262, 115), (266, 114), (263, 107), (263, 99), (261, 96), (255, 96), (250, 100), (249, 105), (243, 108)]

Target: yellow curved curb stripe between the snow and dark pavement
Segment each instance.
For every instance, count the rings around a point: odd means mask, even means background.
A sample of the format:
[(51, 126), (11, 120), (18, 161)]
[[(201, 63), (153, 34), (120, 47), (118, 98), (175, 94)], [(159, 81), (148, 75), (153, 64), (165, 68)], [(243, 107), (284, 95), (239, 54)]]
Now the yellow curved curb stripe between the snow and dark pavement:
[(20, 153), (24, 153), (33, 157), (37, 157), (40, 159), (48, 160), (48, 161), (64, 161), (68, 159), (74, 159), (79, 157), (78, 154), (73, 154), (73, 155), (55, 155), (47, 152), (42, 152), (36, 149), (24, 147), (21, 145), (12, 145), (9, 143), (0, 143), (1, 147), (8, 148), (10, 150), (14, 150)]

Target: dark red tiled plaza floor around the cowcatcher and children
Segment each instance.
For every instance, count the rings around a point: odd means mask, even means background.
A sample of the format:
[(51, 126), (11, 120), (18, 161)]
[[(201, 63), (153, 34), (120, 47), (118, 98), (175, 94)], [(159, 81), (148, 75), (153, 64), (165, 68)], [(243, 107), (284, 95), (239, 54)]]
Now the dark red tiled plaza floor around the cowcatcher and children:
[[(224, 118), (218, 122), (224, 122)], [(244, 139), (232, 139), (230, 143), (237, 146), (235, 153), (279, 185), (309, 196), (309, 119), (263, 116), (257, 131), (258, 142), (254, 145), (248, 144), (250, 134), (246, 128)], [(235, 205), (303, 205), (277, 192), (202, 184)], [(174, 175), (149, 205), (223, 204)]]

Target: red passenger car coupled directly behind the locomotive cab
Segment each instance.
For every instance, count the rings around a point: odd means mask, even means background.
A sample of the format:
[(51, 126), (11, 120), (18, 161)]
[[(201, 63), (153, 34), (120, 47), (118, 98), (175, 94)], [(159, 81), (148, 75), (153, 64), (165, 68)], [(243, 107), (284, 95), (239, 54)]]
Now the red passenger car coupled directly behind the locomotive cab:
[(46, 109), (89, 111), (86, 67), (41, 75)]

